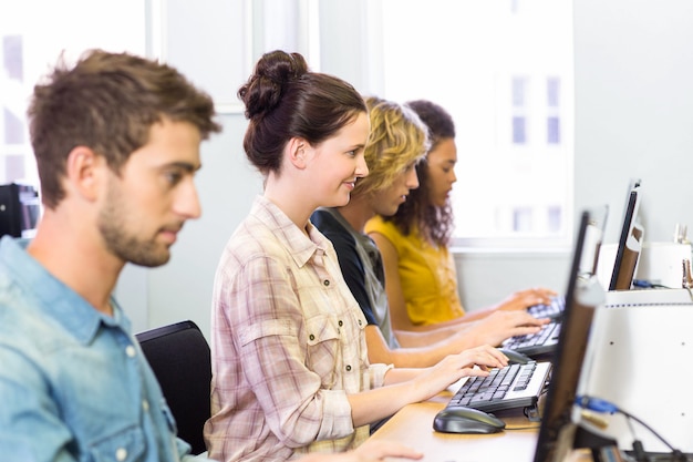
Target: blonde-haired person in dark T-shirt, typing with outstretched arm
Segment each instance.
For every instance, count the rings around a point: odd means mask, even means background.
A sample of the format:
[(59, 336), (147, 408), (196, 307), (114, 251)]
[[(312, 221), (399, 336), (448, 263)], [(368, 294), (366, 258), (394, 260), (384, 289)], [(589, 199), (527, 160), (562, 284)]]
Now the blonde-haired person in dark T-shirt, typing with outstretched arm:
[(376, 214), (394, 215), (410, 192), (418, 187), (415, 165), (425, 157), (430, 141), (426, 125), (411, 109), (376, 96), (368, 97), (366, 105), (371, 121), (364, 152), (369, 175), (356, 182), (349, 204), (321, 207), (311, 222), (334, 245), (344, 279), (369, 322), (369, 359), (397, 367), (426, 367), (447, 355), (498, 345), (525, 332), (527, 326), (541, 325), (526, 312), (507, 312), (422, 332), (392, 328), (382, 258), (364, 227)]

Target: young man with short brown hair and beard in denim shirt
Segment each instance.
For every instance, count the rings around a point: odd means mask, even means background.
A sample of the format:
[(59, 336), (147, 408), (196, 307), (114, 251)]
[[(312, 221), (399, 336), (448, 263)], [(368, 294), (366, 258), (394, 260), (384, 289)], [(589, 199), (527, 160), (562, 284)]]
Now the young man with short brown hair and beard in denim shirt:
[(41, 179), (35, 237), (0, 240), (0, 454), (179, 461), (175, 423), (112, 297), (200, 214), (199, 146), (220, 126), (178, 71), (127, 53), (64, 60), (28, 111)]

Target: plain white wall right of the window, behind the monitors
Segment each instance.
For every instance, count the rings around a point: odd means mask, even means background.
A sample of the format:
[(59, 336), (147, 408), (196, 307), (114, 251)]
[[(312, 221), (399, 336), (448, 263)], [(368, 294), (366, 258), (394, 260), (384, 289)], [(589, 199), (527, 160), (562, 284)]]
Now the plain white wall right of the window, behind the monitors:
[(575, 2), (576, 203), (609, 201), (616, 240), (625, 187), (642, 177), (645, 240), (693, 227), (693, 2)]

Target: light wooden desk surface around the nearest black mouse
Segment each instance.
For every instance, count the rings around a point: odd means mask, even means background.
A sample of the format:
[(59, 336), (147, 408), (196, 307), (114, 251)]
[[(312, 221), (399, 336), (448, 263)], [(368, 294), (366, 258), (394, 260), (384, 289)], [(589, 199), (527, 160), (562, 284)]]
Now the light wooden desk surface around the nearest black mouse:
[[(500, 433), (452, 434), (434, 431), (433, 419), (449, 398), (451, 394), (445, 392), (428, 401), (406, 405), (371, 438), (397, 441), (415, 448), (424, 453), (424, 462), (534, 461), (539, 423), (530, 422), (521, 409), (495, 412), (497, 418), (506, 422), (506, 430)], [(569, 461), (591, 461), (591, 456), (576, 452)]]

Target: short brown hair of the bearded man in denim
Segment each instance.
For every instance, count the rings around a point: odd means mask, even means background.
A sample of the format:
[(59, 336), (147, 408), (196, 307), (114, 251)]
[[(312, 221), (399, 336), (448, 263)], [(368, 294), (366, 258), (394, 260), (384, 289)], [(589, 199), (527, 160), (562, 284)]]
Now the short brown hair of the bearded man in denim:
[(189, 122), (203, 138), (219, 132), (211, 97), (174, 68), (130, 53), (85, 52), (72, 68), (61, 57), (34, 86), (28, 110), (43, 204), (64, 198), (65, 162), (76, 146), (104, 156), (116, 173), (144, 146), (149, 129), (168, 119)]

